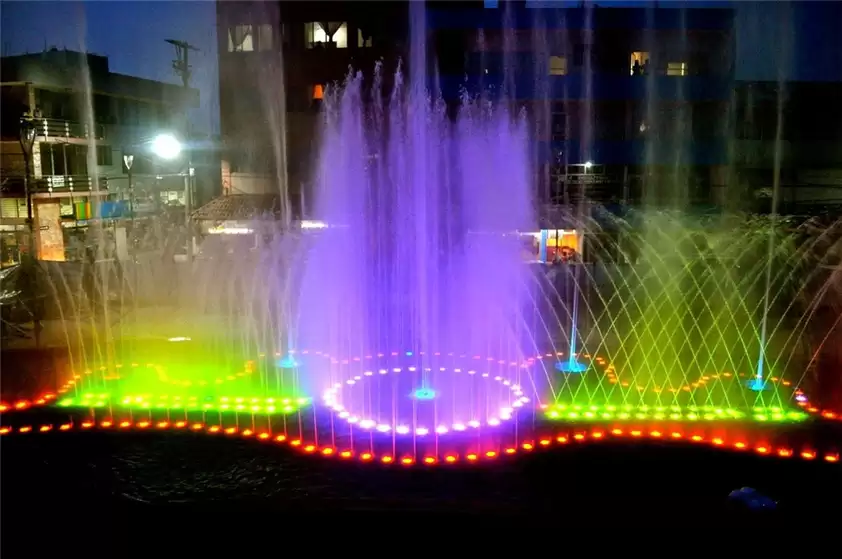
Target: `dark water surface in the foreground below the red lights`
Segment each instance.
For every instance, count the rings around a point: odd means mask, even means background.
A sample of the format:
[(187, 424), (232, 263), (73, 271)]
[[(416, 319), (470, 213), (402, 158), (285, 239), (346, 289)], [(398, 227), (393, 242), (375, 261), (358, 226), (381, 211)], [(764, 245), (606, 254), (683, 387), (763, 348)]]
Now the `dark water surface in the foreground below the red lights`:
[[(778, 508), (749, 513), (729, 503), (742, 486)], [(15, 435), (2, 443), (2, 545), (3, 557), (24, 556), (35, 541), (47, 554), (69, 537), (68, 549), (92, 546), (98, 556), (112, 545), (160, 542), (167, 547), (158, 556), (171, 556), (174, 545), (198, 551), (290, 532), (282, 539), (300, 535), (349, 552), (403, 538), (412, 552), (413, 542), (418, 551), (428, 546), (421, 542), (432, 531), (431, 556), (442, 538), (451, 550), (522, 554), (585, 534), (571, 545), (590, 541), (594, 556), (673, 538), (701, 538), (726, 556), (747, 549), (778, 557), (805, 545), (839, 556), (840, 489), (838, 465), (645, 443), (557, 449), (490, 467), (405, 469), (190, 433)], [(620, 533), (622, 540), (609, 537)]]

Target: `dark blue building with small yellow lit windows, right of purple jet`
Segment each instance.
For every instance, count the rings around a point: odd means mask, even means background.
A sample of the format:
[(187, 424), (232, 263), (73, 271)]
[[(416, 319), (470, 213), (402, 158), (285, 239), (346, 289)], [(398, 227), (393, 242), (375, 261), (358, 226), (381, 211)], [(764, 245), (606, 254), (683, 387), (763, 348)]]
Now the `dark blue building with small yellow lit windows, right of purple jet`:
[(545, 201), (724, 199), (732, 10), (490, 4), (433, 4), (444, 93), (493, 90), (527, 109)]

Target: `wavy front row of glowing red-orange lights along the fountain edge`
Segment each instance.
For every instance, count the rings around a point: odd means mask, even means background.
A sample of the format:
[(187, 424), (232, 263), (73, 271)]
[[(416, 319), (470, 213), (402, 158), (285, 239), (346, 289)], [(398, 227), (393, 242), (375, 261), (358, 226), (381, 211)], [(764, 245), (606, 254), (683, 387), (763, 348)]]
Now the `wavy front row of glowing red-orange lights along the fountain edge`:
[(423, 456), (416, 458), (410, 455), (375, 454), (373, 452), (358, 452), (351, 449), (339, 449), (332, 446), (320, 446), (310, 444), (297, 438), (284, 434), (273, 434), (267, 431), (255, 431), (252, 429), (237, 429), (236, 427), (222, 427), (220, 425), (207, 425), (204, 423), (191, 423), (188, 421), (83, 421), (81, 423), (64, 423), (55, 425), (22, 426), (17, 428), (0, 427), (0, 435), (26, 435), (32, 433), (49, 433), (52, 431), (71, 430), (184, 430), (200, 432), (207, 435), (236, 436), (246, 439), (256, 439), (263, 442), (277, 444), (288, 444), (296, 451), (304, 454), (321, 455), (325, 457), (337, 457), (340, 460), (358, 460), (360, 462), (379, 462), (382, 464), (400, 464), (403, 466), (424, 465), (434, 466), (437, 464), (474, 463), (480, 461), (492, 461), (498, 458), (550, 448), (568, 444), (594, 443), (611, 439), (637, 439), (637, 440), (658, 440), (672, 442), (690, 442), (703, 444), (720, 449), (728, 449), (738, 452), (753, 452), (761, 456), (774, 456), (779, 458), (801, 458), (802, 460), (821, 459), (825, 462), (839, 462), (838, 452), (825, 452), (819, 454), (816, 450), (803, 447), (796, 451), (789, 446), (775, 446), (765, 443), (749, 443), (743, 440), (727, 440), (724, 437), (705, 437), (700, 434), (685, 435), (679, 431), (660, 430), (650, 427), (643, 429), (625, 430), (621, 428), (578, 431), (571, 433), (557, 433), (535, 437), (534, 440), (522, 442), (518, 445), (511, 445), (502, 450), (487, 450), (484, 452), (469, 452), (464, 455), (445, 453), (442, 456)]

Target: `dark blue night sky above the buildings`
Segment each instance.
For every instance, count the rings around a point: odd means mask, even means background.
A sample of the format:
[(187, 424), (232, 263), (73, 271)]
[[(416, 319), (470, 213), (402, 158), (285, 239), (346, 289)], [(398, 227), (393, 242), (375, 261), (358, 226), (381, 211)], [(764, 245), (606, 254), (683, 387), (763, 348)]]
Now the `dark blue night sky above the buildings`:
[[(546, 2), (545, 2), (546, 3)], [(578, 2), (558, 2), (578, 4)], [(640, 6), (645, 2), (597, 2)], [(730, 6), (737, 10), (737, 78), (842, 81), (842, 2), (716, 2), (684, 5)], [(682, 5), (661, 1), (663, 7)], [(193, 86), (201, 107), (192, 116), (202, 131), (219, 128), (216, 8), (211, 0), (169, 2), (3, 0), (4, 55), (45, 47), (89, 50), (109, 57), (111, 71), (175, 83), (173, 47), (165, 39), (196, 45)]]

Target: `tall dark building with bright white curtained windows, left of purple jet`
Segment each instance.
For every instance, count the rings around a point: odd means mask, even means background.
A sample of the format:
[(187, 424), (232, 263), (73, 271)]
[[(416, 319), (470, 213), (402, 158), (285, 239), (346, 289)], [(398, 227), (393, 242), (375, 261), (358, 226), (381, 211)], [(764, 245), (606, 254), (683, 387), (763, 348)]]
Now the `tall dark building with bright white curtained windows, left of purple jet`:
[(217, 2), (223, 191), (280, 193), (309, 182), (325, 88), (350, 67), (394, 68), (408, 3)]

